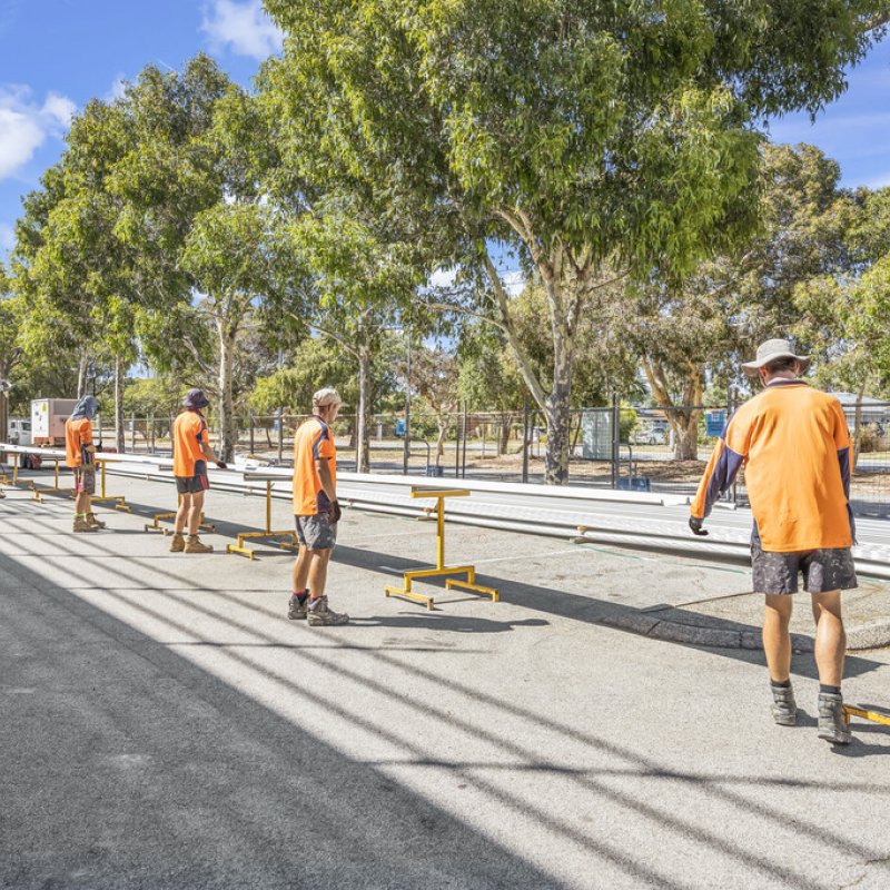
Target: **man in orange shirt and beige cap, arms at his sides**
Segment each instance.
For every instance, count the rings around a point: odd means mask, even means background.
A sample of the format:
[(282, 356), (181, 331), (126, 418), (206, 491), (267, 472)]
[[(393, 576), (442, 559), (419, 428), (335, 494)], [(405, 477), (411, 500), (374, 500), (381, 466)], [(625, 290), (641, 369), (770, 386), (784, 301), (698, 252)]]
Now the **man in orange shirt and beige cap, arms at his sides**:
[(349, 616), (328, 607), (327, 565), (337, 543), (337, 446), (332, 425), (340, 409), (336, 389), (313, 396), (313, 414), (294, 436), (294, 518), (299, 553), (287, 616), (313, 625), (346, 624)]

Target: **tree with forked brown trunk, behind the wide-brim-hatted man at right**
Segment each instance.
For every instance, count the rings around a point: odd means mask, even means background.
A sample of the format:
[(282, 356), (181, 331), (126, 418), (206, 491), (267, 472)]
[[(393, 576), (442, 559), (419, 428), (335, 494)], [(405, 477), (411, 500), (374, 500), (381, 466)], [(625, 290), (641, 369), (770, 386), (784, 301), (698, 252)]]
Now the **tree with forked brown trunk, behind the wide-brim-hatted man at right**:
[(709, 380), (733, 383), (742, 353), (800, 333), (795, 287), (849, 268), (852, 205), (838, 164), (813, 146), (762, 150), (760, 229), (689, 275), (654, 271), (633, 283), (613, 314), (665, 412), (678, 459), (698, 456)]

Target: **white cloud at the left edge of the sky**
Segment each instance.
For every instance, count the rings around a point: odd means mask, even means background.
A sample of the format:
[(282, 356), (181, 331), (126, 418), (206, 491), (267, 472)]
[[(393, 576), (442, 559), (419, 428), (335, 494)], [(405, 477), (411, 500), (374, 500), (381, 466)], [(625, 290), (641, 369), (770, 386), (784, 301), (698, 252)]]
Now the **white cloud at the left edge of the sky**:
[(48, 136), (60, 136), (76, 110), (70, 99), (57, 92), (39, 106), (27, 87), (0, 86), (0, 179), (28, 164)]

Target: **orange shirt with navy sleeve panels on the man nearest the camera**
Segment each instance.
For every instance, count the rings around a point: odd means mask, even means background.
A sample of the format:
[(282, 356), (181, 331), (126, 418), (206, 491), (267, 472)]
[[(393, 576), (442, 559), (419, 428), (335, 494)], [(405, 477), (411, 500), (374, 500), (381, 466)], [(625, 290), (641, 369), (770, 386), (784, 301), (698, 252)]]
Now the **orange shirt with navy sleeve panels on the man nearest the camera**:
[(744, 464), (764, 551), (852, 546), (850, 453), (837, 398), (803, 380), (773, 380), (726, 424), (690, 511), (704, 518)]

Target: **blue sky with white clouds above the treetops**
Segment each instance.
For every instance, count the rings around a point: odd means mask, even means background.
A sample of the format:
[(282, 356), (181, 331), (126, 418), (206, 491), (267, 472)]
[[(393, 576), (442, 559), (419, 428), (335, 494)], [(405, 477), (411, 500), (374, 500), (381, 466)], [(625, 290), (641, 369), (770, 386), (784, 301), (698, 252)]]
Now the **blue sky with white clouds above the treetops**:
[[(249, 85), (278, 47), (259, 0), (0, 0), (0, 257), (21, 196), (89, 99), (115, 96), (149, 62), (176, 68), (199, 50)], [(773, 140), (819, 146), (844, 185), (890, 185), (890, 40), (849, 81), (814, 125), (805, 115), (773, 121)]]

